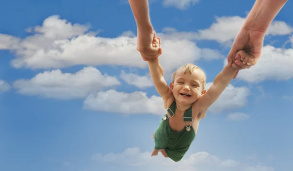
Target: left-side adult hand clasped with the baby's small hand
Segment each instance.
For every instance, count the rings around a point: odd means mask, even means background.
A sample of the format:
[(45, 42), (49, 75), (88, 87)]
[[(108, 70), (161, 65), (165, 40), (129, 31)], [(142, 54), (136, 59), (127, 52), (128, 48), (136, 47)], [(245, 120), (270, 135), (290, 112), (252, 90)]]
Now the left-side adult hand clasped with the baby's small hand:
[(144, 61), (155, 60), (162, 54), (161, 40), (156, 37), (154, 31), (151, 34), (138, 31), (136, 49), (141, 53)]

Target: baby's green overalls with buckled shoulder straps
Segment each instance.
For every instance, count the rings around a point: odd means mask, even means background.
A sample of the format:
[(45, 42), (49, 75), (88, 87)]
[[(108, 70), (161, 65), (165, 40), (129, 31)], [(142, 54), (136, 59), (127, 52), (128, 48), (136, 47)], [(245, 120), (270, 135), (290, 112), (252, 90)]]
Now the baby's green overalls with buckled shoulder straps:
[[(191, 127), (191, 108), (192, 107), (188, 108), (184, 113), (183, 121), (189, 122), (186, 128), (179, 132), (171, 130), (169, 126), (168, 115), (166, 114), (154, 133), (155, 150), (165, 149), (168, 157), (175, 162), (178, 162), (182, 159), (184, 154), (189, 149), (192, 141), (195, 139), (195, 132)], [(175, 115), (175, 100), (167, 109), (167, 111), (170, 114), (170, 117)]]

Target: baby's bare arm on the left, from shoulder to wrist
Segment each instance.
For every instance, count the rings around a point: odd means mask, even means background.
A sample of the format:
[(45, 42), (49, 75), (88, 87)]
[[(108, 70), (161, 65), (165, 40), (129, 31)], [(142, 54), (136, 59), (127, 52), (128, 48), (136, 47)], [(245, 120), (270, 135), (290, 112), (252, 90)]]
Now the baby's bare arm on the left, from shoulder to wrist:
[(148, 61), (148, 68), (156, 90), (166, 102), (169, 98), (169, 95), (171, 94), (171, 91), (163, 76), (164, 71), (159, 62), (159, 59), (157, 58), (155, 60)]

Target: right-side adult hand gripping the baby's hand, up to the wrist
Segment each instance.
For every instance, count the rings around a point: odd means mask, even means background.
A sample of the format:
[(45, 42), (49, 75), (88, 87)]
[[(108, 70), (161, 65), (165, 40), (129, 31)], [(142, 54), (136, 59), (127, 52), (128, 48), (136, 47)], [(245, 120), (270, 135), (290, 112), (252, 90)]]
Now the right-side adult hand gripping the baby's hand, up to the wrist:
[[(264, 38), (265, 32), (241, 28), (228, 54), (228, 63), (239, 70), (250, 68), (256, 64), (261, 56)], [(250, 65), (243, 64), (244, 58), (235, 58), (239, 50), (244, 50), (254, 61)], [(234, 79), (237, 77), (238, 72), (235, 74)]]

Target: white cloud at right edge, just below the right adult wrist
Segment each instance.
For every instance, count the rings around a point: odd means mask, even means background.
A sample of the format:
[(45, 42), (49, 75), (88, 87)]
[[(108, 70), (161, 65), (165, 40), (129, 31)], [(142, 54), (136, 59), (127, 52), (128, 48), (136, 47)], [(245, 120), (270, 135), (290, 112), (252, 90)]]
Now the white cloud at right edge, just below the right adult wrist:
[[(227, 60), (224, 61), (227, 64)], [(287, 81), (293, 78), (293, 49), (263, 47), (262, 56), (250, 69), (241, 70), (237, 79), (249, 83), (265, 80)]]

